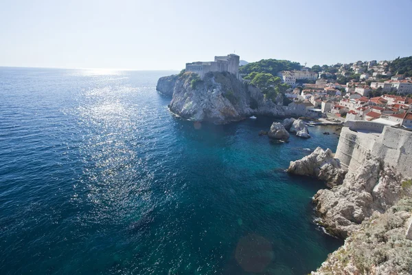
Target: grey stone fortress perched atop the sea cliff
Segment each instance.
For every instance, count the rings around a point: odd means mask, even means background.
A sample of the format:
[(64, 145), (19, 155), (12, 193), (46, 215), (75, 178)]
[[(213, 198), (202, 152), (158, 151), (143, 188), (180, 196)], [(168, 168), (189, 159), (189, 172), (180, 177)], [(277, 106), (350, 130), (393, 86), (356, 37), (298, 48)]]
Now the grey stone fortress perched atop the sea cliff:
[(186, 72), (194, 72), (201, 78), (208, 72), (229, 72), (239, 78), (239, 61), (240, 56), (236, 54), (215, 56), (214, 61), (186, 63)]

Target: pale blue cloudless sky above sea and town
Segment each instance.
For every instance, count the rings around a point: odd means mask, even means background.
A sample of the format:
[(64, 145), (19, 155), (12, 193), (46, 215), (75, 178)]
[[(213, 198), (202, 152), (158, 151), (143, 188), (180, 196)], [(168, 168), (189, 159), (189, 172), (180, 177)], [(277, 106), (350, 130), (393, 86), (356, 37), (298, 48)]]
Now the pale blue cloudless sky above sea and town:
[(1, 0), (0, 66), (183, 69), (235, 52), (304, 65), (412, 56), (412, 0)]

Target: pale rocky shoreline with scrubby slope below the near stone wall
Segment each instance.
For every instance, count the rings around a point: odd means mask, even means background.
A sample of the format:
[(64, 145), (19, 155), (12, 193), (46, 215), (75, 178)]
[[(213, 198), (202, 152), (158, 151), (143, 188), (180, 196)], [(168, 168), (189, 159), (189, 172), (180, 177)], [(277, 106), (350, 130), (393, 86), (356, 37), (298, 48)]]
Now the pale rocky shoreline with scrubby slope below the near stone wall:
[(330, 149), (320, 147), (290, 162), (287, 171), (316, 177), (331, 188), (319, 190), (312, 202), (319, 225), (345, 239), (312, 274), (411, 274), (411, 181), (370, 156), (347, 172)]

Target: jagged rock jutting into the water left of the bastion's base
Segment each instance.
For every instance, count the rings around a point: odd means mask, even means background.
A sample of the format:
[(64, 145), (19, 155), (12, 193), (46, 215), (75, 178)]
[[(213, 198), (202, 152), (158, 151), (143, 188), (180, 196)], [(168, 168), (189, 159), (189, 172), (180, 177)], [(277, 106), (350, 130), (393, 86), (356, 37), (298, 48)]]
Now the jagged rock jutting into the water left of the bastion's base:
[(329, 148), (323, 150), (321, 147), (317, 147), (313, 153), (303, 159), (290, 162), (287, 172), (316, 177), (326, 181), (328, 186), (342, 184), (347, 173), (346, 170), (341, 168), (339, 159), (333, 157), (332, 151)]

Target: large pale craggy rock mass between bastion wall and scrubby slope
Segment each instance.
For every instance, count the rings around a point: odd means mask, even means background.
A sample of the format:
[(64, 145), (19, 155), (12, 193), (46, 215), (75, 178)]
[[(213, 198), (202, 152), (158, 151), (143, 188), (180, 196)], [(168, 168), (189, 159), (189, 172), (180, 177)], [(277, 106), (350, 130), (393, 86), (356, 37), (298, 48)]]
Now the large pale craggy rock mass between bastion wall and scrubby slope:
[(359, 168), (347, 173), (343, 184), (319, 190), (314, 203), (328, 232), (346, 238), (375, 212), (385, 212), (402, 192), (400, 175), (382, 167), (380, 159), (367, 158)]

